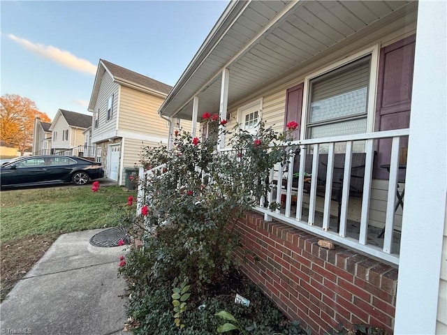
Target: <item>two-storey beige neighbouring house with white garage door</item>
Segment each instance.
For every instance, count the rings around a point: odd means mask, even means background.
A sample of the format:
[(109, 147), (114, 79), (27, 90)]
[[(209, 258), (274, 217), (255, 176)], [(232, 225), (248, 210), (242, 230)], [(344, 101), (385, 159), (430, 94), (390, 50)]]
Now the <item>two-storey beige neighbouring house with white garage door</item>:
[(170, 126), (181, 127), (179, 121), (170, 122), (157, 114), (171, 88), (99, 60), (89, 111), (94, 116), (91, 142), (98, 148), (96, 154), (105, 167), (106, 177), (126, 184), (125, 170), (138, 163), (142, 147), (166, 145)]

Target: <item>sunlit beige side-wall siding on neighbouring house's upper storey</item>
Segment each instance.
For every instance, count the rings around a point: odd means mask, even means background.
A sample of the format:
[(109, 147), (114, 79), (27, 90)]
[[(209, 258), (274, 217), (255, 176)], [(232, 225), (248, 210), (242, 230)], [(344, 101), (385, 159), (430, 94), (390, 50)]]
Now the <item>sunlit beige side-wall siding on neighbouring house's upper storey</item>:
[(164, 99), (142, 91), (121, 87), (119, 131), (168, 138), (169, 128), (158, 110)]

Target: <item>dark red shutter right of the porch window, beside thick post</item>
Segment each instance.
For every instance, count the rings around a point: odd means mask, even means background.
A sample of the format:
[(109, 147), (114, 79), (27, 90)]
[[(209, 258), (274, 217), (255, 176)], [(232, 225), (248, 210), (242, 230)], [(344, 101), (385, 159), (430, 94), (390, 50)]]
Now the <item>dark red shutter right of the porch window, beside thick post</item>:
[[(374, 131), (402, 129), (410, 125), (415, 41), (416, 35), (409, 36), (380, 51)], [(400, 147), (408, 147), (408, 139), (401, 140)], [(390, 163), (391, 140), (378, 141), (376, 149), (374, 178), (388, 179), (387, 170), (380, 166)]]

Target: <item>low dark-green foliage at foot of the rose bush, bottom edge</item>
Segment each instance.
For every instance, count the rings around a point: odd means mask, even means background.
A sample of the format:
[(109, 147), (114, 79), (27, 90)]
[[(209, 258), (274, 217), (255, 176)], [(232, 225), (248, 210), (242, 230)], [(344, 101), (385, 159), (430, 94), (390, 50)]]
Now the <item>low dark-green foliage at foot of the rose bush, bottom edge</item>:
[[(147, 286), (140, 295), (132, 295), (129, 300), (128, 315), (133, 320), (138, 320), (138, 327), (135, 328), (135, 324), (133, 327), (132, 325), (128, 327), (135, 334), (154, 334), (154, 329), (159, 335), (217, 334), (217, 328), (222, 322), (215, 314), (225, 310), (234, 315), (249, 334), (307, 334), (299, 322), (288, 322), (263, 292), (248, 279), (242, 276), (233, 277), (231, 286), (234, 289), (228, 289), (226, 292), (213, 290), (201, 297), (191, 296), (188, 308), (182, 313), (182, 323), (185, 325), (183, 329), (173, 322), (173, 305), (170, 303), (171, 285), (166, 284), (157, 288)], [(250, 299), (248, 307), (235, 304), (236, 292)]]

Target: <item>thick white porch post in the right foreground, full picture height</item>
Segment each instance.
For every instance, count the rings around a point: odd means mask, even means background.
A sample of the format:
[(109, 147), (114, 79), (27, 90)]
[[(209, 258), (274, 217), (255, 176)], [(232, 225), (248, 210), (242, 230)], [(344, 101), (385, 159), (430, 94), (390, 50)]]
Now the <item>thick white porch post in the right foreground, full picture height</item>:
[(438, 312), (441, 267), (446, 285), (446, 10), (444, 0), (418, 3), (395, 334), (446, 330)]

